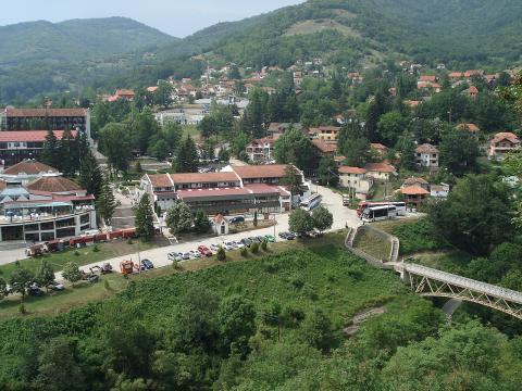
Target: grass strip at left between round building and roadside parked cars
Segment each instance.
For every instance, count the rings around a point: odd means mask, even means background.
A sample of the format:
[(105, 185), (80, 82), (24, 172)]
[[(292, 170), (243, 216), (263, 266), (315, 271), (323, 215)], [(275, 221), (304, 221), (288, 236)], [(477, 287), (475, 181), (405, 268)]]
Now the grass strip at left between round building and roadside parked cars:
[[(30, 257), (18, 261), (22, 266), (36, 273), (41, 264), (42, 260), (49, 262), (54, 272), (60, 272), (67, 262), (75, 262), (78, 266), (88, 265), (91, 263), (102, 262), (116, 256), (134, 254), (138, 251), (150, 250), (157, 247), (169, 245), (167, 241), (158, 240), (149, 243), (145, 243), (138, 240), (134, 240), (132, 244), (127, 241), (114, 241), (111, 243), (97, 244), (98, 251), (95, 251), (95, 247), (86, 247), (78, 250), (67, 250), (63, 252), (47, 254), (38, 257)], [(0, 276), (9, 280), (11, 273), (15, 267), (14, 263), (0, 266)]]

